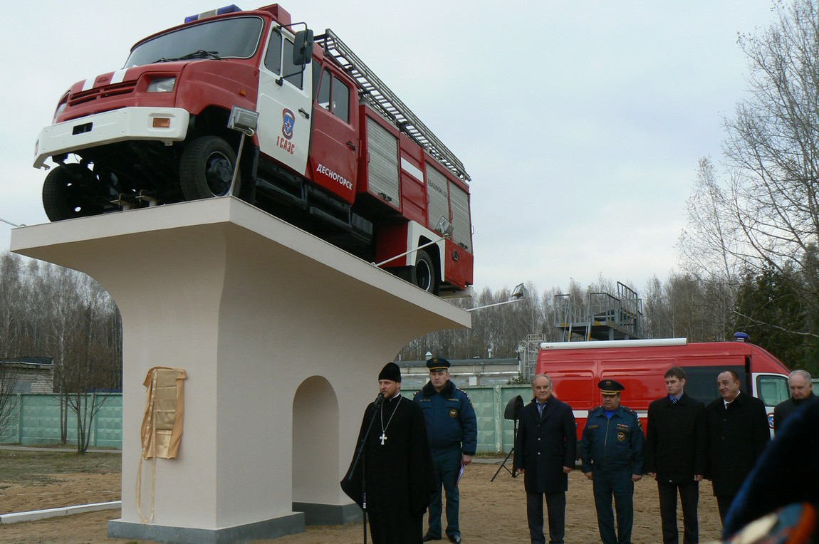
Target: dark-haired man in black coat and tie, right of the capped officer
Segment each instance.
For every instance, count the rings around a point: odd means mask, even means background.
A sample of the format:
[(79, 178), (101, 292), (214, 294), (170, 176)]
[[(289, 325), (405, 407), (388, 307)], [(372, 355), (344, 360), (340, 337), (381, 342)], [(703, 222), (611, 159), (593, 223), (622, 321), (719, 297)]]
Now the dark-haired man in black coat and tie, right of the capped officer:
[(645, 472), (657, 480), (663, 544), (677, 544), (676, 496), (682, 506), (685, 544), (699, 542), (699, 482), (705, 474), (705, 405), (686, 392), (686, 371), (665, 373), (667, 396), (649, 405)]

